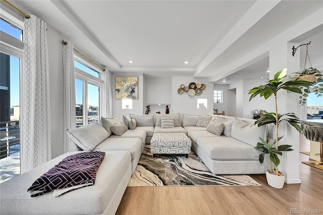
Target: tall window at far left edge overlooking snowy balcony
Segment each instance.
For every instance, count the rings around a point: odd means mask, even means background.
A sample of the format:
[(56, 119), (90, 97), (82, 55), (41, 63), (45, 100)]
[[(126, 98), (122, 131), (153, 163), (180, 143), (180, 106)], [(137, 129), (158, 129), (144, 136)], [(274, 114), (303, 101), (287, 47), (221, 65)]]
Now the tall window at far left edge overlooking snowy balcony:
[[(20, 92), (23, 22), (5, 11), (0, 14), (0, 183), (20, 175)], [(6, 19), (3, 16), (6, 15)], [(8, 21), (6, 21), (8, 20)], [(20, 28), (12, 23), (19, 24)], [(18, 25), (17, 24), (17, 25)]]

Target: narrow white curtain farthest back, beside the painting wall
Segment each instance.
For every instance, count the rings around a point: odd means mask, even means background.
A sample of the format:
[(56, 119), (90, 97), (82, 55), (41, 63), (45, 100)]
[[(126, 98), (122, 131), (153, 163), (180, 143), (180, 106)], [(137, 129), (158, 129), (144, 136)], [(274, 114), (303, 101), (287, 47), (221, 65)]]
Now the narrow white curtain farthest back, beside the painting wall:
[(103, 117), (112, 117), (112, 85), (110, 84), (111, 72), (105, 68), (105, 71), (102, 73), (103, 80)]

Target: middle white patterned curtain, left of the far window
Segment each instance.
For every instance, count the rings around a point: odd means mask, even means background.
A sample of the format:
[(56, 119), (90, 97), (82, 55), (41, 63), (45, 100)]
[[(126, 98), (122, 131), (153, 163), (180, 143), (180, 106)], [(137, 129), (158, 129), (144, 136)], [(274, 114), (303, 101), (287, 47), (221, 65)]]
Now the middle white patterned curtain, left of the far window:
[(75, 151), (75, 143), (67, 136), (66, 129), (76, 127), (75, 114), (75, 75), (74, 75), (74, 46), (67, 42), (63, 47), (64, 71), (64, 152)]

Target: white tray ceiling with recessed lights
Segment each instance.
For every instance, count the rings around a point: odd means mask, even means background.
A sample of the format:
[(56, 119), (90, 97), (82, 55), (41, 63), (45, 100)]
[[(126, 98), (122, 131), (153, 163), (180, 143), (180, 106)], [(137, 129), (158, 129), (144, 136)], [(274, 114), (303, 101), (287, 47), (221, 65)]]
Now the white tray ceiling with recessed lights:
[[(323, 7), (323, 1), (16, 3), (112, 72), (149, 76), (186, 73), (212, 80), (219, 65), (253, 50)], [(253, 72), (267, 68), (268, 58), (262, 58), (241, 73), (255, 77)]]

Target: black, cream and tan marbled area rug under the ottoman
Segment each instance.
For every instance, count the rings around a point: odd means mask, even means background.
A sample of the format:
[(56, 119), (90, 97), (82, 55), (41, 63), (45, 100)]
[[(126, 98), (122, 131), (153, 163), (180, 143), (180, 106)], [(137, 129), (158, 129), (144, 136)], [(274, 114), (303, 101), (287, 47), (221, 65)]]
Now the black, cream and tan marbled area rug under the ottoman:
[(150, 145), (145, 145), (128, 186), (181, 185), (261, 186), (248, 175), (212, 174), (194, 151), (188, 158), (185, 154), (156, 154), (152, 157)]

